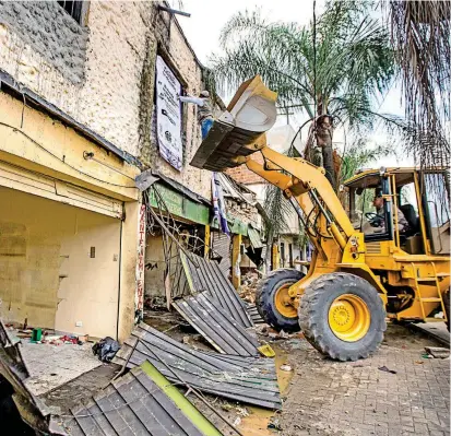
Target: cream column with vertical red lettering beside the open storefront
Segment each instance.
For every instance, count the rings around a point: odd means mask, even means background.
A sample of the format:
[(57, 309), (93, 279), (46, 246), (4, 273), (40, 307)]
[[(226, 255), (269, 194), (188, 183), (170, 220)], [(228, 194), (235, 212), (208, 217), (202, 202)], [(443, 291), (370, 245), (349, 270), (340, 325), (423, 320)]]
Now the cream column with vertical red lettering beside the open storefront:
[[(141, 207), (142, 204), (138, 201), (124, 203), (126, 220), (122, 222), (121, 234), (120, 291), (118, 308), (118, 339), (120, 342), (123, 342), (130, 335), (134, 326), (137, 310), (135, 299), (139, 291), (139, 278), (137, 276), (137, 271), (139, 267), (138, 250), (140, 248)], [(145, 240), (145, 227), (143, 237)], [(144, 286), (144, 279), (142, 279), (142, 281)]]

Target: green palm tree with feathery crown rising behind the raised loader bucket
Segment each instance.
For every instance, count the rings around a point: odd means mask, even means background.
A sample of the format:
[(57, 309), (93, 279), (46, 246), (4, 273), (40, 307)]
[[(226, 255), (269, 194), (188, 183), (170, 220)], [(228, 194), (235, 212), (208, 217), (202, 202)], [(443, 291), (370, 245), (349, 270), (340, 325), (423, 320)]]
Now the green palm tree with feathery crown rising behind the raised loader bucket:
[(334, 129), (370, 127), (375, 97), (395, 71), (389, 34), (368, 14), (368, 4), (333, 1), (305, 27), (268, 22), (259, 11), (237, 13), (222, 31), (224, 55), (212, 58), (212, 73), (223, 90), (260, 74), (278, 93), (282, 107), (307, 114), (312, 122), (306, 157), (312, 161), (319, 152), (334, 187)]

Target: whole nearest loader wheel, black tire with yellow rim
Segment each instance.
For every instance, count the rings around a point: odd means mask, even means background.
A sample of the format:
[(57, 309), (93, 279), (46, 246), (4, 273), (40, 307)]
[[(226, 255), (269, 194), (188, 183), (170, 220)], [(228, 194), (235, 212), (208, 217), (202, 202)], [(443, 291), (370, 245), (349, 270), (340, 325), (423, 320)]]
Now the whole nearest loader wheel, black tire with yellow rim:
[(345, 272), (324, 274), (304, 292), (299, 325), (321, 353), (339, 361), (366, 358), (382, 342), (385, 309), (373, 286)]

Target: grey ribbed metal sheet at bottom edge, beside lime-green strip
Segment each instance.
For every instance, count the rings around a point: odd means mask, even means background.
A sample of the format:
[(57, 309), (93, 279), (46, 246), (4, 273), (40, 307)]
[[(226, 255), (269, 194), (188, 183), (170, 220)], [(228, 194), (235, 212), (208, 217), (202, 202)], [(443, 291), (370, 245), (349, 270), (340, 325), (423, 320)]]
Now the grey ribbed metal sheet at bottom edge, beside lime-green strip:
[(75, 436), (202, 436), (141, 368), (133, 368), (71, 412), (74, 417), (64, 427)]

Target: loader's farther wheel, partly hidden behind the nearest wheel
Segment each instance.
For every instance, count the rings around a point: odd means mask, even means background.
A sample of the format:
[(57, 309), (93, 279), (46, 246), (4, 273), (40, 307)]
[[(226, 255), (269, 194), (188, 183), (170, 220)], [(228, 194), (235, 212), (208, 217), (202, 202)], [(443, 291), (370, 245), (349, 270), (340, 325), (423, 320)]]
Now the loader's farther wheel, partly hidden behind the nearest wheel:
[(257, 309), (265, 322), (277, 331), (299, 331), (297, 310), (289, 304), (288, 288), (302, 278), (300, 271), (285, 268), (270, 272), (257, 286)]

